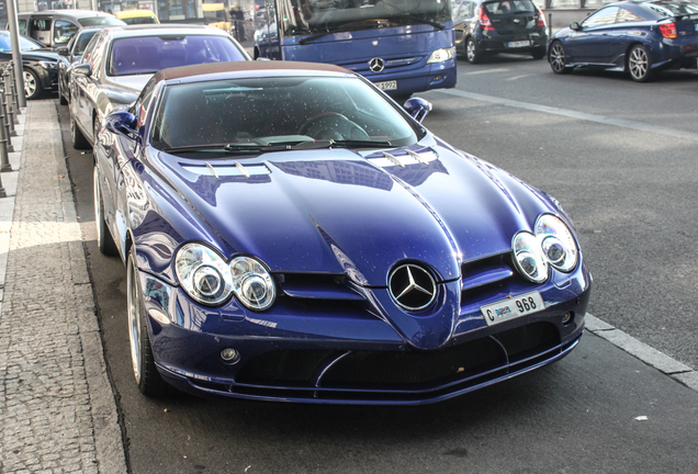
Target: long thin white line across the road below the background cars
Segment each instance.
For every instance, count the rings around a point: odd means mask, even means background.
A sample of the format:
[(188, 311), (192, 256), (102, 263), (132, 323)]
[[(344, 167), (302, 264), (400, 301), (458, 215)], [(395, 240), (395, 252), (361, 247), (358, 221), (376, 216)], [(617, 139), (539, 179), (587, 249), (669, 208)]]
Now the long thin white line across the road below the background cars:
[[(495, 70), (495, 69), (492, 69), (492, 70)], [(435, 90), (434, 92), (444, 93), (444, 94), (449, 94), (449, 95), (462, 97), (462, 98), (465, 98), (465, 99), (472, 99), (472, 100), (476, 100), (476, 101), (481, 101), (481, 102), (491, 102), (491, 103), (496, 103), (496, 104), (499, 104), (499, 105), (506, 105), (506, 106), (516, 108), (516, 109), (526, 109), (526, 110), (530, 110), (530, 111), (533, 111), (533, 112), (542, 112), (542, 113), (549, 113), (549, 114), (553, 114), (553, 115), (562, 115), (562, 116), (566, 116), (566, 117), (570, 117), (570, 119), (577, 119), (577, 120), (583, 120), (583, 121), (587, 121), (587, 122), (596, 122), (596, 123), (600, 123), (600, 124), (604, 124), (604, 125), (613, 125), (613, 126), (618, 126), (618, 127), (622, 127), (622, 128), (635, 129), (635, 131), (640, 131), (640, 132), (656, 133), (656, 134), (660, 134), (660, 135), (666, 135), (666, 136), (671, 136), (671, 137), (674, 137), (674, 138), (683, 138), (683, 139), (687, 139), (687, 140), (691, 140), (691, 142), (698, 142), (698, 133), (693, 133), (693, 132), (687, 132), (687, 131), (679, 131), (679, 129), (675, 129), (675, 128), (667, 128), (667, 127), (662, 127), (662, 126), (656, 126), (656, 125), (650, 125), (650, 124), (646, 124), (646, 123), (629, 121), (629, 120), (624, 120), (624, 119), (612, 119), (612, 117), (607, 117), (605, 115), (596, 115), (596, 114), (590, 114), (590, 113), (585, 113), (585, 112), (576, 112), (576, 111), (571, 111), (571, 110), (567, 110), (567, 109), (559, 109), (559, 108), (552, 108), (552, 106), (548, 106), (548, 105), (539, 105), (539, 104), (533, 104), (533, 103), (529, 103), (529, 102), (519, 102), (519, 101), (515, 101), (515, 100), (497, 98), (497, 97), (494, 97), (494, 95), (479, 94), (479, 93), (475, 93), (475, 92), (465, 92), (465, 91), (458, 90), (458, 89), (439, 89), (439, 90)]]

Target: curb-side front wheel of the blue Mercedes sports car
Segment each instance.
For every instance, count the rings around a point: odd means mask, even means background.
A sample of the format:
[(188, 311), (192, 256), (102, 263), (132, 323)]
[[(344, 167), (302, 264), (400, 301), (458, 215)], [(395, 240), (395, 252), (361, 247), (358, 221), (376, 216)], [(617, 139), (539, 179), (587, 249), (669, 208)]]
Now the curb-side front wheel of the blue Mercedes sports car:
[(146, 396), (165, 396), (174, 388), (162, 380), (155, 366), (148, 323), (143, 305), (143, 293), (136, 267), (136, 248), (131, 247), (126, 263), (126, 296), (128, 313), (128, 341), (131, 345), (131, 361), (136, 384)]

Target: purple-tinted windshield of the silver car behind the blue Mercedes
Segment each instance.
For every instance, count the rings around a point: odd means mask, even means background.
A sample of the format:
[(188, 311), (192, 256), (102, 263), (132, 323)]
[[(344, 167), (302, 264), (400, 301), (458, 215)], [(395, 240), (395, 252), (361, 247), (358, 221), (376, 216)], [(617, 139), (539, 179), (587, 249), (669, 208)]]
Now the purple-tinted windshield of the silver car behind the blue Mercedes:
[(126, 37), (114, 41), (108, 74), (110, 76), (155, 74), (171, 67), (245, 59), (228, 36)]

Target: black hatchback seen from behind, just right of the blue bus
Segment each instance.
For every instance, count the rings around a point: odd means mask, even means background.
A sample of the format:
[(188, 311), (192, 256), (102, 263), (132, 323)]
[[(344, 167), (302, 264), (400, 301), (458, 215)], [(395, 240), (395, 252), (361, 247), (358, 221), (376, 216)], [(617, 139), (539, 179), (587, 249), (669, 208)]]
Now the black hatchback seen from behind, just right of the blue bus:
[(455, 0), (455, 50), (470, 63), (496, 53), (545, 57), (545, 15), (531, 0)]

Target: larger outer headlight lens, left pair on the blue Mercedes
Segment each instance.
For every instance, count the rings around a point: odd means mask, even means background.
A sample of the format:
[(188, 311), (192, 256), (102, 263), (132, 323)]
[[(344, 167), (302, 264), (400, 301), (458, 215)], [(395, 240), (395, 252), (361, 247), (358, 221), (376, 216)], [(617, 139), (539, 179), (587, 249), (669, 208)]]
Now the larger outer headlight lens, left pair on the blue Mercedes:
[(177, 252), (177, 278), (193, 300), (207, 305), (226, 301), (233, 291), (230, 269), (212, 249), (187, 244)]

